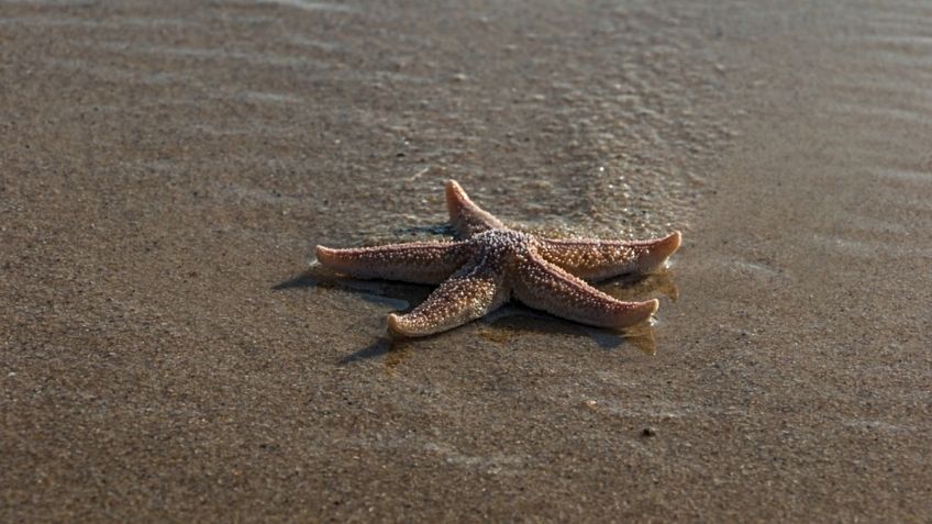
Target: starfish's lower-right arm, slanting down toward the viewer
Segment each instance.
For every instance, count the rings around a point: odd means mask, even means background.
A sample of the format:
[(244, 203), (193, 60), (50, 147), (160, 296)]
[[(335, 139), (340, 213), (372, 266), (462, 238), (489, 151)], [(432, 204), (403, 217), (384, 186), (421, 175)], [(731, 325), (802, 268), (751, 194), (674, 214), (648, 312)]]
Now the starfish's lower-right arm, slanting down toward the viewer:
[(651, 317), (658, 302), (622, 302), (531, 253), (517, 265), (512, 292), (524, 304), (581, 324), (628, 327)]

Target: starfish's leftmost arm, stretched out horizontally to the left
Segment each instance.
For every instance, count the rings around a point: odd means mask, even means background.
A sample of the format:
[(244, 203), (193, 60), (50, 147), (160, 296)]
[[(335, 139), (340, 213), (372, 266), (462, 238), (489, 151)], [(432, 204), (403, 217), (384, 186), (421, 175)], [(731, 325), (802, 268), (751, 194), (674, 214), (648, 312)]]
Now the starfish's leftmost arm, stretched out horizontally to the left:
[(465, 242), (414, 242), (354, 249), (317, 248), (324, 267), (357, 278), (440, 283), (469, 259)]

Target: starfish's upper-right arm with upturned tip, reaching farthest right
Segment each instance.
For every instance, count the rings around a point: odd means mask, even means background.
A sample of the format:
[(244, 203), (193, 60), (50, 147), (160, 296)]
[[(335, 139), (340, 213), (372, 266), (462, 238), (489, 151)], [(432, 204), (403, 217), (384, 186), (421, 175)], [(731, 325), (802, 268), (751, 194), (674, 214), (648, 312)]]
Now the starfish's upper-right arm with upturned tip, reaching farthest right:
[(548, 263), (579, 278), (602, 280), (651, 272), (663, 266), (680, 243), (678, 231), (663, 238), (636, 242), (541, 238), (537, 252)]

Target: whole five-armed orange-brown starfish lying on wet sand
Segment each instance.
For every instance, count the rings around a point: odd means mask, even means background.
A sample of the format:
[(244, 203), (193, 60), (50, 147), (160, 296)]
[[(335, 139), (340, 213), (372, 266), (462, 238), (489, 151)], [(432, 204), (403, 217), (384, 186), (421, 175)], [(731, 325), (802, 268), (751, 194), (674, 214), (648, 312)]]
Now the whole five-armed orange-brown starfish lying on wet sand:
[(679, 247), (680, 233), (639, 242), (554, 239), (506, 227), (446, 182), (454, 241), (331, 249), (318, 261), (340, 274), (440, 287), (407, 314), (388, 315), (389, 330), (425, 336), (463, 325), (515, 298), (582, 324), (623, 328), (651, 317), (656, 299), (622, 302), (586, 283), (657, 269)]

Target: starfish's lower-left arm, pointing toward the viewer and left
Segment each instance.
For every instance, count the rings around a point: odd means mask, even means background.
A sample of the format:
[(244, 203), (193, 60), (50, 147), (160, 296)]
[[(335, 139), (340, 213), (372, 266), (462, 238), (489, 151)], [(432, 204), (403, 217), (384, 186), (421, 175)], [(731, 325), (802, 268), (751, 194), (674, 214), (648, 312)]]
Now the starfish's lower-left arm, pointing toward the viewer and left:
[(495, 310), (508, 300), (502, 274), (489, 261), (463, 267), (410, 313), (388, 315), (388, 327), (403, 336), (452, 330)]

